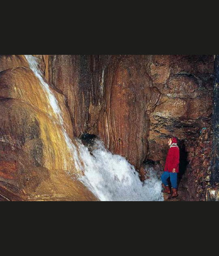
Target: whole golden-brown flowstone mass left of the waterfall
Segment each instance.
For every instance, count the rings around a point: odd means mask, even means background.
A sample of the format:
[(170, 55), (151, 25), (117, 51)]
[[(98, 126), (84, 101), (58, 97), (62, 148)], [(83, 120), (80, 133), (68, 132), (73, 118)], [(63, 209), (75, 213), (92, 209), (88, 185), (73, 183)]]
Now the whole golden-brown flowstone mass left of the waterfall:
[[(0, 56), (0, 63), (0, 190), (9, 196), (9, 200), (41, 199), (44, 194), (66, 198), (73, 191), (82, 196), (73, 193), (77, 200), (94, 199), (82, 184), (79, 185), (80, 182), (72, 182), (64, 173), (64, 170), (75, 174), (79, 171), (75, 169), (65, 138), (69, 136), (73, 140), (64, 95), (50, 88), (60, 106), (62, 126), (58, 122), (58, 114), (49, 104), (49, 96), (29, 68), (26, 58)], [(63, 184), (68, 184), (71, 189), (64, 191), (60, 187)], [(50, 193), (39, 189), (42, 186), (47, 191), (50, 189)], [(82, 191), (84, 189), (84, 195), (77, 191), (79, 186)], [(0, 196), (1, 199), (4, 197)]]

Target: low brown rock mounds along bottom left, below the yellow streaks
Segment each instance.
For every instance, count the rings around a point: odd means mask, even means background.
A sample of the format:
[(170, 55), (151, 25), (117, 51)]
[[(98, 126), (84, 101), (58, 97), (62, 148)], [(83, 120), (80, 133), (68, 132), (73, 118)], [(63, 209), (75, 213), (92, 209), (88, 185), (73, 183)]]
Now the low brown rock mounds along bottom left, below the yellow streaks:
[(29, 154), (0, 142), (0, 201), (97, 200), (84, 185), (63, 170), (36, 166)]

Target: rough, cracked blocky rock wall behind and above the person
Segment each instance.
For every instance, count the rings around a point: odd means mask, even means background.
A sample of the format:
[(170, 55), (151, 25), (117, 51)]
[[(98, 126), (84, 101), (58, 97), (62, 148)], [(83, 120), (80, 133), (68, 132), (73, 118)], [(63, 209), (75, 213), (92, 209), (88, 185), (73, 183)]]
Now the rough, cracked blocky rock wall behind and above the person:
[[(156, 66), (154, 66), (155, 64)], [(150, 114), (149, 158), (165, 164), (166, 135), (178, 138), (183, 200), (208, 200), (213, 112), (213, 55), (155, 56), (154, 86), (162, 93)], [(154, 69), (158, 69), (156, 72)], [(160, 70), (161, 69), (161, 70)]]

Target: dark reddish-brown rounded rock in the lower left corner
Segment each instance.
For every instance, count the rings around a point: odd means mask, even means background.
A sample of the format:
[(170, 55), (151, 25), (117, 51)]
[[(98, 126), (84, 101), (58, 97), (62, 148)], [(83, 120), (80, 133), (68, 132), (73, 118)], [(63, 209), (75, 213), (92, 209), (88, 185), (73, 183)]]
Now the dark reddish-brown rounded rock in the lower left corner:
[(0, 150), (0, 189), (4, 189), (4, 195), (25, 199), (42, 180), (49, 177), (48, 170), (37, 166), (23, 150), (2, 141)]

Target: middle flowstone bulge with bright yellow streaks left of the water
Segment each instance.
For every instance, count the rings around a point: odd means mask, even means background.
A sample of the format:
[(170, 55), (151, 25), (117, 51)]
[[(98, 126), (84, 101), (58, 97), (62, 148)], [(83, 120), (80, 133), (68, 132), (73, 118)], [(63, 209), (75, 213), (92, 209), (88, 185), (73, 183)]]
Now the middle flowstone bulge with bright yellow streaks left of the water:
[[(0, 108), (0, 112), (4, 113), (4, 116), (2, 115), (0, 118), (1, 130), (4, 131), (7, 138), (11, 138), (10, 141), (16, 145), (21, 145), (22, 150), (29, 154), (34, 150), (36, 143), (42, 143), (41, 164), (43, 167), (49, 170), (62, 169), (79, 173), (79, 170), (75, 169), (71, 152), (66, 146), (60, 125), (54, 123), (46, 113), (27, 102), (16, 99), (1, 100)], [(31, 136), (28, 133), (30, 129), (27, 129), (26, 126), (34, 120), (39, 126), (39, 135), (35, 135), (35, 131), (33, 131), (35, 136)], [(23, 136), (26, 137), (23, 138)], [(25, 140), (24, 145), (21, 143), (22, 140)]]

